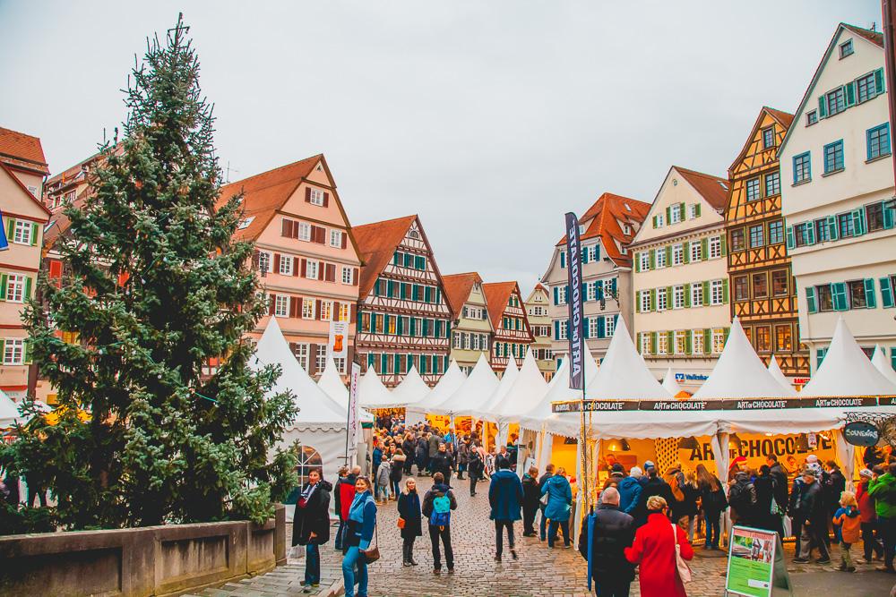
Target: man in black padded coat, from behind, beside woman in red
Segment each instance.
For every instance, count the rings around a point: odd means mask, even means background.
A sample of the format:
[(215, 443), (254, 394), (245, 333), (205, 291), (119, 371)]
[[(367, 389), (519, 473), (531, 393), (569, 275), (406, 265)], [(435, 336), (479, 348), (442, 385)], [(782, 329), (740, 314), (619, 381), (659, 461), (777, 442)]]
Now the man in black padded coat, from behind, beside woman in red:
[(587, 560), (590, 542), (595, 593), (599, 597), (628, 597), (634, 567), (625, 559), (624, 551), (634, 539), (634, 519), (619, 509), (619, 491), (615, 487), (607, 487), (600, 494), (590, 536), (588, 521), (589, 516), (585, 516), (579, 533), (579, 553)]

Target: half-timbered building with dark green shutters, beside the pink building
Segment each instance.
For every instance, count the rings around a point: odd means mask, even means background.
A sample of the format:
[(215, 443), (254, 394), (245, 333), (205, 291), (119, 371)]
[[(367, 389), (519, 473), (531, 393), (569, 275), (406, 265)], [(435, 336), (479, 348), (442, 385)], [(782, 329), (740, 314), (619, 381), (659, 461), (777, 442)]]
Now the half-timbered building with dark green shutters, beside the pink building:
[(401, 383), (411, 366), (430, 386), (448, 367), (453, 314), (415, 216), (354, 228), (361, 268), (356, 350), (361, 369)]

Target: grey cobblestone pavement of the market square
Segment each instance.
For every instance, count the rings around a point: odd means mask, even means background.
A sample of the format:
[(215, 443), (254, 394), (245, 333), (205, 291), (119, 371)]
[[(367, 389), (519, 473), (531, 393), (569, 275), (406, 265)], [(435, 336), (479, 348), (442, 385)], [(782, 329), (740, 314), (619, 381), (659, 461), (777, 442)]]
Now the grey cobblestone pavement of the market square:
[[(431, 482), (418, 478), (425, 491)], [(368, 568), (370, 597), (585, 597), (585, 562), (578, 550), (547, 549), (538, 538), (522, 537), (522, 524), (516, 525), (517, 553), (514, 561), (504, 546), (504, 561), (495, 562), (494, 526), (488, 520), (487, 483), (480, 483), (478, 494), (470, 497), (467, 482), (455, 482), (458, 509), (452, 513), (452, 547), (455, 574), (433, 574), (433, 559), (428, 535), (419, 537), (414, 554), (418, 567), (401, 565), (401, 536), (396, 526), (398, 514), (394, 502), (378, 506), (381, 559)], [(291, 533), (287, 533), (289, 537)], [(558, 545), (562, 542), (558, 542)], [(855, 550), (854, 550), (855, 551)], [(793, 545), (785, 547), (786, 558), (793, 557)], [(854, 554), (855, 555), (855, 554)], [(839, 552), (834, 548), (834, 563)], [(329, 546), (321, 548), (323, 583), (314, 594), (327, 595), (341, 584), (341, 553)], [(719, 597), (724, 594), (726, 554), (724, 551), (698, 549), (691, 562), (694, 582), (687, 585), (691, 597)], [(872, 566), (859, 566), (857, 574), (837, 572), (831, 565), (789, 564), (795, 595), (818, 595), (846, 589), (849, 597), (888, 595), (896, 577), (875, 572)], [(821, 574), (819, 574), (821, 573)], [(266, 575), (231, 583), (220, 589), (207, 589), (205, 597), (281, 597), (301, 594), (299, 581), (304, 577), (304, 562), (290, 559), (289, 565)], [(332, 581), (332, 585), (328, 584)], [(637, 579), (632, 595), (640, 595)]]

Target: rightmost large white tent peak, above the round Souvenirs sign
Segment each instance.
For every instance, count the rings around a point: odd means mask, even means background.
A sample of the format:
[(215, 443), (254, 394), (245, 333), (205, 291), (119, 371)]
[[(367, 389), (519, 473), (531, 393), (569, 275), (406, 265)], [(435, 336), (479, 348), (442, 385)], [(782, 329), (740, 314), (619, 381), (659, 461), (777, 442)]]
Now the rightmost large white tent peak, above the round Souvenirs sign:
[(803, 388), (801, 396), (891, 396), (896, 384), (877, 371), (856, 344), (846, 322), (840, 317), (828, 352), (818, 371)]

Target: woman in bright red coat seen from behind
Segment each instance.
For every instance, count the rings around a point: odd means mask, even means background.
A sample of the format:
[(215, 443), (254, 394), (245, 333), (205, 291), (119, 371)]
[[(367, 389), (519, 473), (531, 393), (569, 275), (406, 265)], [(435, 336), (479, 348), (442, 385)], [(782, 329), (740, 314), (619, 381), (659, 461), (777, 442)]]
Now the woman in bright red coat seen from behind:
[(667, 507), (665, 499), (650, 497), (647, 500), (647, 524), (634, 534), (632, 547), (625, 548), (625, 558), (641, 565), (642, 597), (687, 597), (685, 584), (678, 576), (674, 537), (678, 537), (682, 558), (694, 558), (694, 550), (687, 542), (687, 533), (669, 522)]

